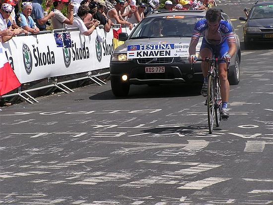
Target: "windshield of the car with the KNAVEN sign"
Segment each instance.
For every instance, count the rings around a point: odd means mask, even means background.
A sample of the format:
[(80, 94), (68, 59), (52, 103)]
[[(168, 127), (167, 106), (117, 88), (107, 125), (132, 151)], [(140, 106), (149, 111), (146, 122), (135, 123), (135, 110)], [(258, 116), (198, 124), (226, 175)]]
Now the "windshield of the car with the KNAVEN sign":
[(158, 16), (144, 18), (133, 31), (130, 39), (191, 37), (195, 23), (202, 16)]

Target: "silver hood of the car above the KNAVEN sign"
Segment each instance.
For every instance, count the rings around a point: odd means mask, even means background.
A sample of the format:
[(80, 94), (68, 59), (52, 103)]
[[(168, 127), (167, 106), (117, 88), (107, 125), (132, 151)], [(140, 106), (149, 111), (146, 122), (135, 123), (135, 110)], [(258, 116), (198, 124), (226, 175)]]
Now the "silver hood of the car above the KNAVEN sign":
[[(165, 43), (183, 43), (189, 44), (191, 42), (191, 37), (181, 37), (181, 38), (145, 38), (145, 39), (128, 39), (124, 44), (116, 48), (114, 53), (127, 53), (127, 46), (129, 45), (143, 45), (143, 44), (165, 44)], [(196, 51), (199, 52), (202, 40), (199, 40), (199, 43), (196, 47)]]

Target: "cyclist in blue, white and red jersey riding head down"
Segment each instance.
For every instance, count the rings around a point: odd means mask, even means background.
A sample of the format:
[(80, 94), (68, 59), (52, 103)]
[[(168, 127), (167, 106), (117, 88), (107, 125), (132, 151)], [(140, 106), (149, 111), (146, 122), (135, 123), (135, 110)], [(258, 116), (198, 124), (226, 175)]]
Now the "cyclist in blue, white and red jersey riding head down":
[[(216, 55), (214, 56), (215, 58), (225, 58), (225, 61), (218, 61), (218, 70), (222, 98), (221, 116), (223, 119), (227, 119), (229, 117), (227, 111), (229, 82), (227, 80), (226, 62), (228, 62), (236, 52), (236, 40), (232, 31), (232, 26), (227, 21), (221, 20), (220, 10), (215, 8), (208, 9), (205, 14), (205, 19), (199, 20), (195, 25), (189, 47), (190, 62), (197, 59), (195, 56), (196, 46), (201, 35), (204, 37), (200, 48), (200, 56), (202, 59), (206, 57), (212, 58), (214, 53)], [(206, 97), (208, 63), (202, 62), (201, 68), (204, 76), (201, 94)]]

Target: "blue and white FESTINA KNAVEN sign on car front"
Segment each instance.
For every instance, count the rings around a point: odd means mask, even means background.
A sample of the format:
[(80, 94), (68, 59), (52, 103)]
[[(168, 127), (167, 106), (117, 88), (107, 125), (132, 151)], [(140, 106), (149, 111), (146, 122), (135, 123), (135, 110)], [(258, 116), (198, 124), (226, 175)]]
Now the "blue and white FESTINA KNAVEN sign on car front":
[(185, 57), (189, 55), (188, 49), (188, 44), (181, 43), (129, 45), (127, 58)]

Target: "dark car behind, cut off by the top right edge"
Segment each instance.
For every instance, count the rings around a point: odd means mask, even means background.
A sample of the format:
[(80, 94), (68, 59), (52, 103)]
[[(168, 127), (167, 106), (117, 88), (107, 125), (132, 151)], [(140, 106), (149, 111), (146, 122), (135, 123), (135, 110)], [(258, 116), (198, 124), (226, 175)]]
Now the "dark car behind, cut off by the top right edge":
[[(246, 9), (247, 10), (247, 9)], [(246, 21), (244, 25), (245, 47), (251, 47), (255, 42), (273, 43), (273, 2), (255, 2), (246, 17), (239, 18)]]

